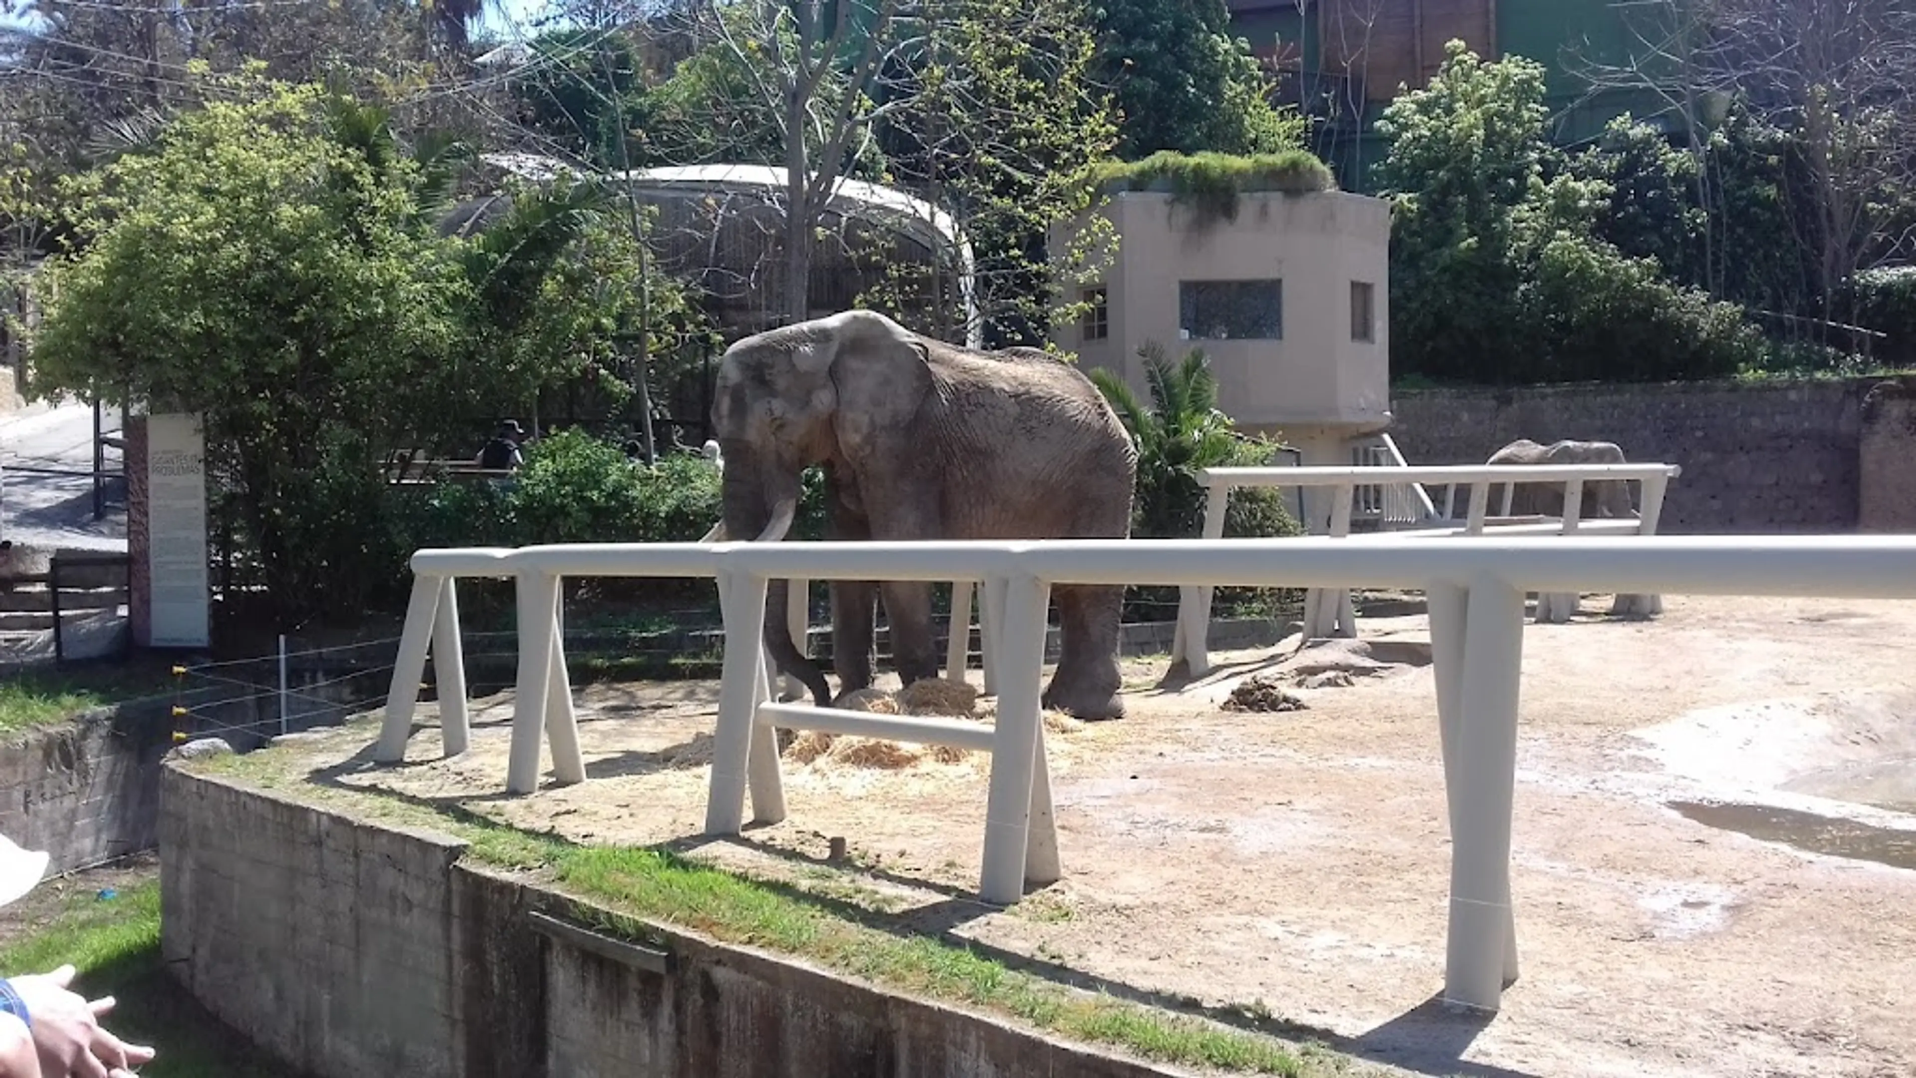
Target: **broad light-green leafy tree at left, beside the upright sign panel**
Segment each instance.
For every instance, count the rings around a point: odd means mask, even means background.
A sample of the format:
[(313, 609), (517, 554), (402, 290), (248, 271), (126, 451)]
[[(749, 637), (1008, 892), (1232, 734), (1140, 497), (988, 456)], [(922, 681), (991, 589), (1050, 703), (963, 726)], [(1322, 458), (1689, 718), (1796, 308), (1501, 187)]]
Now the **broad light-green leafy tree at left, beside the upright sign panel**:
[(508, 341), (577, 336), (525, 295), (588, 217), (567, 188), (531, 226), (443, 238), (445, 169), (379, 109), (238, 88), (67, 184), (86, 242), (56, 267), (33, 364), (44, 389), (201, 412), (280, 614), (364, 610), (404, 558), (379, 478), (399, 435), (584, 363), (515, 364)]

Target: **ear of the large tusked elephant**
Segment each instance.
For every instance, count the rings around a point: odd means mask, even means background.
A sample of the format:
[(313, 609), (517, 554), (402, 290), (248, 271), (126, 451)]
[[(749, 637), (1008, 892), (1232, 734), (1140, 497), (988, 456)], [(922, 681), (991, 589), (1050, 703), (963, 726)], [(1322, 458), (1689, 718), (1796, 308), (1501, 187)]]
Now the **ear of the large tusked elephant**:
[(830, 322), (837, 345), (832, 386), (839, 449), (856, 460), (897, 447), (931, 391), (925, 343), (872, 311), (845, 311)]

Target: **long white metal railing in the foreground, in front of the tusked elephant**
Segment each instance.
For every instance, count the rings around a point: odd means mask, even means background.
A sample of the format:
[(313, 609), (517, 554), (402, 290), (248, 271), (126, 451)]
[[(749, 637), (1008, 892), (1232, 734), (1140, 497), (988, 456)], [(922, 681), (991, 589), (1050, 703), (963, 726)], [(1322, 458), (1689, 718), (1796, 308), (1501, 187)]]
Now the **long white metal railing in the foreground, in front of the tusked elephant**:
[[(414, 591), (376, 758), (404, 756), (427, 644), (441, 675), (446, 754), (466, 748), (464, 681), (456, 671), (454, 577), (517, 579), (519, 683), (508, 786), (531, 790), (540, 727), (554, 773), (582, 781), (579, 737), (558, 643), (561, 575), (715, 577), (726, 650), (715, 721), (707, 834), (736, 834), (749, 794), (759, 819), (784, 819), (770, 721), (878, 733), (992, 752), (979, 894), (1012, 903), (1023, 884), (1058, 879), (1038, 687), (1054, 585), (1403, 587), (1429, 597), (1437, 723), (1452, 836), (1445, 997), (1496, 1009), (1516, 978), (1510, 823), (1525, 591), (1611, 591), (1826, 598), (1916, 598), (1916, 537), (1471, 535), (1426, 543), (1372, 539), (1086, 539), (1040, 543), (657, 543), (420, 551)], [(772, 577), (971, 579), (1002, 595), (996, 635), (998, 717), (989, 735), (968, 723), (770, 704), (763, 627)]]

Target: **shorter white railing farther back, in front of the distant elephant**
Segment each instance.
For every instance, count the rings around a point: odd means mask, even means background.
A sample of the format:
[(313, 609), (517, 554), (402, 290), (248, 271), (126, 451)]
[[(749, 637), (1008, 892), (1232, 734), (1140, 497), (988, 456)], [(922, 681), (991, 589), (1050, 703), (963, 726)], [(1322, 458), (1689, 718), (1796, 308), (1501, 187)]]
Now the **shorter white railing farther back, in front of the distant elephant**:
[[(1481, 535), (1487, 527), (1498, 533), (1510, 527), (1523, 527), (1537, 533), (1542, 526), (1546, 533), (1569, 535), (1575, 531), (1655, 535), (1657, 520), (1663, 514), (1663, 493), (1669, 481), (1682, 474), (1676, 464), (1431, 464), (1431, 466), (1305, 466), (1305, 468), (1203, 468), (1198, 481), (1205, 487), (1203, 537), (1224, 535), (1224, 510), (1230, 491), (1242, 487), (1305, 487), (1334, 491), (1328, 520), (1318, 514), (1322, 508), (1309, 508), (1301, 522), (1307, 531), (1343, 539), (1351, 535), (1351, 512), (1355, 491), (1360, 487), (1422, 489), (1422, 483), (1447, 483), (1445, 516), (1441, 527), (1395, 529), (1389, 535), (1414, 539), (1439, 539), (1460, 535)], [(1586, 481), (1638, 481), (1642, 510), (1634, 520), (1579, 520), (1583, 504), (1583, 485)], [(1491, 518), (1491, 485), (1506, 483), (1504, 516)], [(1514, 483), (1562, 483), (1563, 516), (1550, 518), (1512, 518), (1508, 514)], [(1470, 508), (1462, 524), (1450, 516), (1452, 497), (1458, 487), (1470, 489)], [(1178, 597), (1178, 625), (1173, 635), (1171, 660), (1184, 660), (1192, 677), (1201, 677), (1211, 669), (1207, 637), (1211, 629), (1209, 587), (1186, 587)], [(1659, 612), (1661, 600), (1654, 595), (1619, 595), (1613, 614), (1650, 616)], [(1577, 610), (1575, 593), (1539, 593), (1539, 621), (1569, 621)], [(1305, 639), (1355, 637), (1357, 612), (1351, 604), (1349, 587), (1307, 589), (1305, 591)]]

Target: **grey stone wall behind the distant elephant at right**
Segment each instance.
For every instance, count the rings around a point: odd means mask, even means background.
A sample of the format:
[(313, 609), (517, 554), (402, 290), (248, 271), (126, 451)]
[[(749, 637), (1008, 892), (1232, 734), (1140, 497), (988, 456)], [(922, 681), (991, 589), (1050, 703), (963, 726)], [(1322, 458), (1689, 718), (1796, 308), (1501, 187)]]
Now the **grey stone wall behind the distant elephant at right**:
[(1391, 437), (1412, 464), (1481, 464), (1519, 437), (1615, 441), (1682, 466), (1661, 531), (1855, 531), (1862, 401), (1880, 382), (1399, 391)]

